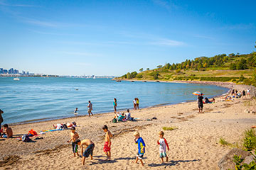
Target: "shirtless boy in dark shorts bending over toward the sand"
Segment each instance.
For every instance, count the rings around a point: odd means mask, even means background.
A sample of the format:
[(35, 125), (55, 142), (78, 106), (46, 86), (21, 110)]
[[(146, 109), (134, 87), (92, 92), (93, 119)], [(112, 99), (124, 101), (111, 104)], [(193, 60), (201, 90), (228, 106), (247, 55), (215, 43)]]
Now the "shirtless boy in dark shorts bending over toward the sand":
[[(82, 140), (82, 142), (78, 142), (78, 145), (80, 145), (80, 147), (82, 148), (82, 165), (85, 165), (85, 159), (89, 157), (89, 155), (91, 156), (91, 160), (93, 159), (92, 154), (93, 149), (95, 148), (95, 144), (91, 140)], [(83, 152), (84, 148), (86, 148), (85, 152)]]

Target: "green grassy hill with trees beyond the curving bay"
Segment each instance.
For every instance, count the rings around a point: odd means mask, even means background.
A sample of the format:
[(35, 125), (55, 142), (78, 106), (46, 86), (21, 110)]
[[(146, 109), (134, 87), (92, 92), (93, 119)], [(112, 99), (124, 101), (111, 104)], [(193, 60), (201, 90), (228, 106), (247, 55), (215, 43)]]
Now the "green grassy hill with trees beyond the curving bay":
[(247, 55), (231, 53), (214, 57), (197, 57), (176, 64), (159, 65), (156, 69), (139, 69), (118, 79), (232, 81), (256, 86), (256, 52)]

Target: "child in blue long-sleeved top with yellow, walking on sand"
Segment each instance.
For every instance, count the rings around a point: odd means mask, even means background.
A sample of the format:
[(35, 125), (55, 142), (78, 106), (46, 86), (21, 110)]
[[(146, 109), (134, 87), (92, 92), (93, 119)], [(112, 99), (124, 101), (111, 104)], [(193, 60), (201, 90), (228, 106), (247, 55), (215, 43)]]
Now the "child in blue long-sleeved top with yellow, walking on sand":
[(144, 166), (143, 162), (142, 162), (142, 157), (144, 156), (145, 153), (145, 142), (142, 139), (142, 137), (139, 136), (139, 132), (134, 132), (134, 141), (136, 144), (138, 144), (138, 153), (137, 153), (137, 158), (136, 161), (134, 163), (137, 164), (138, 160), (142, 163), (142, 166)]

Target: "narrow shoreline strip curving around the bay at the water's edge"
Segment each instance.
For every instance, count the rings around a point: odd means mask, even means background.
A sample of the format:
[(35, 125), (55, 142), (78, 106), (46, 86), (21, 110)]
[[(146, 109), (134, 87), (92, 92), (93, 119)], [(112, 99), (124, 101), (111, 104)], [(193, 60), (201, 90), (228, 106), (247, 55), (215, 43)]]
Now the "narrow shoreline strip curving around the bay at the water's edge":
[[(130, 81), (128, 79), (125, 79), (124, 81)], [(141, 81), (141, 80), (133, 80), (133, 81)], [(149, 81), (149, 82), (156, 82), (156, 81)], [(223, 84), (219, 84), (218, 81), (159, 81), (159, 83), (181, 83), (181, 84), (208, 84), (208, 85), (214, 85), (214, 86), (222, 86), (224, 88), (229, 89), (228, 91), (226, 91), (224, 94), (219, 94), (216, 96), (213, 96), (214, 98), (218, 98), (220, 96), (225, 96), (226, 94), (228, 94), (230, 92), (230, 86), (228, 85), (233, 85), (233, 83), (228, 83), (226, 82), (226, 86), (224, 86)], [(218, 84), (218, 85), (217, 85)], [(193, 102), (193, 101), (181, 101), (180, 103), (189, 103), (189, 102)], [(180, 103), (159, 103), (156, 104), (154, 106), (146, 106), (144, 108), (140, 108), (140, 109), (145, 109), (145, 108), (156, 108), (156, 107), (161, 107), (161, 106), (172, 106), (172, 105), (176, 105), (176, 104), (180, 104)], [(132, 110), (132, 108), (128, 108), (130, 110)], [(118, 112), (124, 112), (126, 111), (126, 109), (122, 109)], [(108, 112), (104, 112), (104, 113), (95, 113), (95, 115), (104, 115), (104, 114), (109, 114), (109, 113), (113, 113), (111, 111)], [(88, 115), (72, 115), (72, 116), (60, 116), (58, 118), (41, 118), (41, 119), (35, 119), (35, 120), (25, 120), (25, 121), (21, 121), (21, 122), (17, 122), (17, 123), (9, 123), (9, 125), (26, 125), (26, 124), (31, 124), (31, 123), (41, 123), (41, 122), (50, 122), (53, 120), (66, 120), (69, 118), (81, 118), (81, 117), (87, 117)]]

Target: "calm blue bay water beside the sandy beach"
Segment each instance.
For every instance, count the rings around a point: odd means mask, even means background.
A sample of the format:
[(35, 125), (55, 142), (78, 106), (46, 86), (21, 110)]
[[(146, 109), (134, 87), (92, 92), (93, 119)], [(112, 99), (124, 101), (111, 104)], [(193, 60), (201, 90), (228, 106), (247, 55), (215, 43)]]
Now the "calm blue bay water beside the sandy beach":
[(0, 77), (0, 109), (4, 123), (28, 120), (46, 120), (87, 114), (87, 101), (93, 105), (92, 113), (113, 111), (113, 98), (117, 98), (117, 111), (133, 108), (133, 99), (139, 98), (139, 107), (196, 101), (192, 93), (201, 91), (211, 98), (228, 89), (203, 84), (177, 84), (159, 82), (116, 82), (111, 79)]

